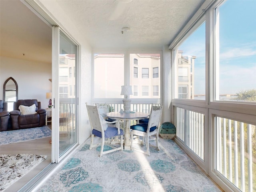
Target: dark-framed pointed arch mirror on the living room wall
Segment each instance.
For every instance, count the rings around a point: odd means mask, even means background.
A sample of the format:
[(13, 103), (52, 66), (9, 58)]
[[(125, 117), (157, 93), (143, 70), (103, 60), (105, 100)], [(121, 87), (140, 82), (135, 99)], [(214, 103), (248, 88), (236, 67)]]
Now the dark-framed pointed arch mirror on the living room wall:
[(8, 103), (8, 111), (13, 110), (13, 102), (18, 101), (18, 84), (12, 77), (4, 82), (3, 100)]

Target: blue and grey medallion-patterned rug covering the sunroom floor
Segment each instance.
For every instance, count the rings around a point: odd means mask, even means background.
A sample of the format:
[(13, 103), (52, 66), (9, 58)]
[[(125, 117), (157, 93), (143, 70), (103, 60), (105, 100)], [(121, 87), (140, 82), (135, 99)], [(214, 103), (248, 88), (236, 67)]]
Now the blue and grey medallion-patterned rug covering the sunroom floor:
[(173, 140), (159, 142), (150, 156), (124, 150), (100, 158), (100, 146), (89, 150), (87, 140), (37, 192), (220, 192)]

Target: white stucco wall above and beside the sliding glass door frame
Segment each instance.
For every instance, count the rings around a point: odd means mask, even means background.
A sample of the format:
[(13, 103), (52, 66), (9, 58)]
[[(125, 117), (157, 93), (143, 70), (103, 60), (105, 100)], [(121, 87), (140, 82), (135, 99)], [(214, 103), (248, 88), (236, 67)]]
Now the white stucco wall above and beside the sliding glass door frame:
[(92, 49), (86, 41), (85, 34), (77, 30), (56, 1), (35, 0), (35, 2), (79, 45), (78, 140), (82, 143), (90, 137), (90, 122), (85, 103), (90, 103), (92, 100)]

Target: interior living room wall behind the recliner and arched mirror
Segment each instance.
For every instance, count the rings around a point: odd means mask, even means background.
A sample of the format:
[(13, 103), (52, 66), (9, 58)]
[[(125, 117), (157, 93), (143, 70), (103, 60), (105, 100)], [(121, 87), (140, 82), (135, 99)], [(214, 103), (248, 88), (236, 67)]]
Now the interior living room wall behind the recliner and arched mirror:
[(46, 92), (51, 92), (52, 65), (48, 63), (0, 57), (0, 100), (3, 100), (3, 86), (12, 77), (18, 84), (18, 99), (37, 99), (42, 108), (48, 108)]

